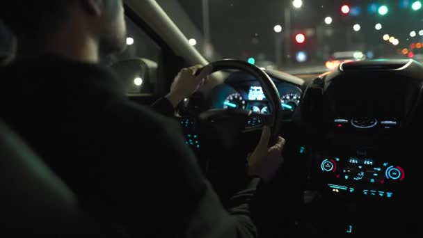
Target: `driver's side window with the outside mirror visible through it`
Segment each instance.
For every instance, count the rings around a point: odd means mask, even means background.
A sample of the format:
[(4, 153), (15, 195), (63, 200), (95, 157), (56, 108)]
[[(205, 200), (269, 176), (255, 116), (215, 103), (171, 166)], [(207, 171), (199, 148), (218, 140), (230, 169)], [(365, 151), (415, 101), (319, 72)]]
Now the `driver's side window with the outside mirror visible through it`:
[(120, 54), (102, 57), (125, 86), (126, 93), (153, 94), (157, 86), (160, 47), (139, 26), (126, 17), (127, 48)]

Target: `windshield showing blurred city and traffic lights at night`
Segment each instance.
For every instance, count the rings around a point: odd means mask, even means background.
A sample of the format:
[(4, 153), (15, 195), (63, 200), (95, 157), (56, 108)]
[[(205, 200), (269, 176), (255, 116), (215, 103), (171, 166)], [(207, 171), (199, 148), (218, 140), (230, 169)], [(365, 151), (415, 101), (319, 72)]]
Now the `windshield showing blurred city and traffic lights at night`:
[(423, 61), (423, 8), (413, 0), (158, 0), (209, 61), (236, 58), (294, 74), (344, 61)]

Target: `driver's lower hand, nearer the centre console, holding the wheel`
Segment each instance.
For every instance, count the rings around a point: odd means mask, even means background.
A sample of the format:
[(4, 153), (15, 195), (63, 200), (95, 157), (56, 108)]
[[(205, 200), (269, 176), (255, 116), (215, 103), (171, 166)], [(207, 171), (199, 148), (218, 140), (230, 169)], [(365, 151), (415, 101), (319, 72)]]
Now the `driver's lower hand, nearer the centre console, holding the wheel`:
[(262, 178), (265, 183), (271, 181), (282, 164), (285, 145), (285, 139), (279, 136), (278, 142), (269, 148), (270, 136), (270, 127), (264, 127), (257, 147), (248, 157), (249, 174)]

